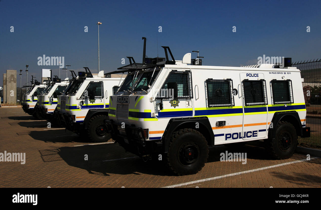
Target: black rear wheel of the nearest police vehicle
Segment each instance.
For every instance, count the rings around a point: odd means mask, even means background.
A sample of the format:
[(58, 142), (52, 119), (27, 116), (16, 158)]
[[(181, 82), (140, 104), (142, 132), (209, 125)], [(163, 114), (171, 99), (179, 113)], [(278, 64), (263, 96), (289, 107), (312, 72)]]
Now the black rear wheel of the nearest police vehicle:
[(290, 158), (297, 147), (298, 138), (294, 126), (281, 121), (276, 127), (275, 139), (265, 139), (265, 147), (276, 159)]

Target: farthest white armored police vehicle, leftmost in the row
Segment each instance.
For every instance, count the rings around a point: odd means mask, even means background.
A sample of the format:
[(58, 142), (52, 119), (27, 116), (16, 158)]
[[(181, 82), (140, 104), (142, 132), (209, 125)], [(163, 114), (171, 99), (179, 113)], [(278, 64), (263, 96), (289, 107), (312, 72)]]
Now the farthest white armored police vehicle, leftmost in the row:
[(36, 112), (34, 111), (34, 108), (38, 103), (38, 95), (46, 88), (47, 83), (40, 84), (40, 82), (38, 82), (37, 80), (31, 83), (32, 86), (30, 86), (26, 94), (23, 95), (21, 106), (25, 113), (28, 113), (36, 117)]

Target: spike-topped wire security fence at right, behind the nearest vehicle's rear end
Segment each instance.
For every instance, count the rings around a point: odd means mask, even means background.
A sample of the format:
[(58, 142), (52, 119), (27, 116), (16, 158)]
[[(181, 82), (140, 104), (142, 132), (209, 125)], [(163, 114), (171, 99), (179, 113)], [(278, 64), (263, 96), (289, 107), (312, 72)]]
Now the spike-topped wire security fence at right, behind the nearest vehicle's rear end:
[(301, 70), (302, 88), (307, 108), (306, 124), (311, 137), (299, 139), (299, 144), (321, 148), (321, 59), (292, 63)]

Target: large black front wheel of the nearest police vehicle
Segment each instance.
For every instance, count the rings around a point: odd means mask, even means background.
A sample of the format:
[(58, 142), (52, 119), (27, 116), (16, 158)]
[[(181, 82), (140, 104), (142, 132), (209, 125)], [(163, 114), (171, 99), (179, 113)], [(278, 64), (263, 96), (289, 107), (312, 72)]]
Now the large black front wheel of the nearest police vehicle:
[(208, 158), (205, 137), (197, 130), (186, 128), (172, 134), (169, 142), (167, 165), (178, 175), (200, 171)]

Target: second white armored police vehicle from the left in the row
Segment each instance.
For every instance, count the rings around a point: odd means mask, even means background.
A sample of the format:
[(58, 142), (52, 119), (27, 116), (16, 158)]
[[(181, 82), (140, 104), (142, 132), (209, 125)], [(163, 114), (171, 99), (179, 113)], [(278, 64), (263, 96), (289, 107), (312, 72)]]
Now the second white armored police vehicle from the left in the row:
[(58, 104), (58, 96), (66, 89), (69, 84), (69, 79), (61, 81), (60, 78), (55, 76), (52, 82), (48, 84), (45, 91), (39, 94), (38, 104), (35, 106), (36, 112), (42, 119), (55, 123), (54, 111)]

